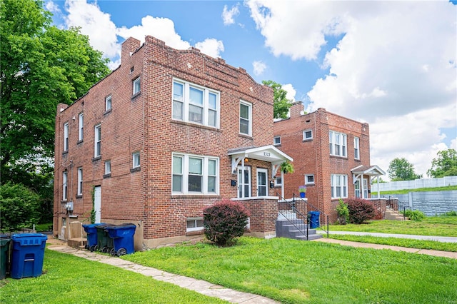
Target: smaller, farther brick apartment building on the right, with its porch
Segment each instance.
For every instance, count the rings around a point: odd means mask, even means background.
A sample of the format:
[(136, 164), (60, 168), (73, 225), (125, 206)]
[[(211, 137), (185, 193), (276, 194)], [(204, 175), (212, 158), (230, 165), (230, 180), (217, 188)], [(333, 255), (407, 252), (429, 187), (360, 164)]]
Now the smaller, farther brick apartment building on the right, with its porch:
[(283, 175), (281, 196), (298, 196), (298, 186), (305, 185), (308, 202), (331, 223), (339, 198), (370, 198), (370, 179), (385, 174), (370, 165), (368, 123), (325, 108), (305, 114), (301, 101), (292, 104), (290, 118), (274, 123), (273, 144), (294, 160), (294, 173)]

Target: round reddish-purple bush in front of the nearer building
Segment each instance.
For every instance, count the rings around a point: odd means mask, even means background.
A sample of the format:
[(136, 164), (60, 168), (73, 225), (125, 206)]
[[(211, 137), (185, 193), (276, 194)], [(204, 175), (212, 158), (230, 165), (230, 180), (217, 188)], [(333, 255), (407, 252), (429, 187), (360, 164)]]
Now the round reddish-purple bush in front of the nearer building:
[(243, 235), (249, 216), (241, 203), (229, 200), (205, 208), (203, 212), (206, 238), (217, 245), (226, 245)]

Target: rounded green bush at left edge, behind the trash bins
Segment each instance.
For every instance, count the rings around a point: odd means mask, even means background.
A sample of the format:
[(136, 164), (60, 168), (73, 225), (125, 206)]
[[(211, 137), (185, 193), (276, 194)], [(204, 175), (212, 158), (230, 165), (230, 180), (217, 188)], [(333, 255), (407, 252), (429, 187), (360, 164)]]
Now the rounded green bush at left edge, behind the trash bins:
[(0, 188), (0, 230), (2, 233), (32, 228), (38, 224), (40, 197), (21, 183)]

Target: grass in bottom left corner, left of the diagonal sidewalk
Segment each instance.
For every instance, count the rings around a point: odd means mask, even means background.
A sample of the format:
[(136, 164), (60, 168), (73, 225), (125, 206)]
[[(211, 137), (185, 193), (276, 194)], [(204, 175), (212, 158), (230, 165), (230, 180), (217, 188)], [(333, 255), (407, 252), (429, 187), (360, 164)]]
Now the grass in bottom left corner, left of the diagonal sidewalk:
[(0, 303), (226, 303), (139, 273), (46, 249), (44, 274), (0, 281)]

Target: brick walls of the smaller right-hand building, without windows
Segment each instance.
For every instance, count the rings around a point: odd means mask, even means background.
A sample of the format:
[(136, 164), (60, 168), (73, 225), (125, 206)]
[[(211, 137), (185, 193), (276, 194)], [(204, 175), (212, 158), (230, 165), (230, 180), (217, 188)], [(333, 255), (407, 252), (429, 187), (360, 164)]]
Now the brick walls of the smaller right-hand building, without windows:
[[(312, 138), (303, 140), (303, 131), (312, 131)], [(346, 134), (346, 157), (331, 156), (329, 131)], [(368, 123), (353, 121), (318, 108), (313, 113), (303, 113), (301, 102), (293, 103), (291, 117), (274, 123), (274, 136), (281, 136), (281, 151), (293, 158), (294, 173), (284, 175), (284, 197), (298, 196), (298, 186), (305, 184), (305, 176), (312, 174), (314, 184), (306, 185), (308, 203), (336, 221), (338, 198), (331, 197), (331, 174), (348, 177), (348, 197), (354, 197), (351, 170), (370, 165)], [(360, 158), (354, 158), (354, 137), (360, 138)], [(364, 176), (368, 179), (369, 177)]]

